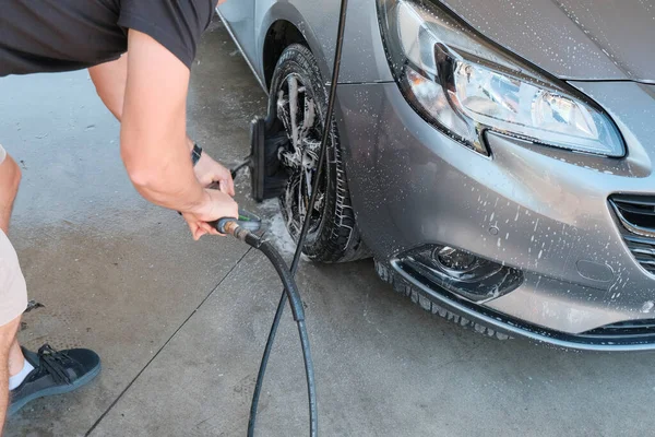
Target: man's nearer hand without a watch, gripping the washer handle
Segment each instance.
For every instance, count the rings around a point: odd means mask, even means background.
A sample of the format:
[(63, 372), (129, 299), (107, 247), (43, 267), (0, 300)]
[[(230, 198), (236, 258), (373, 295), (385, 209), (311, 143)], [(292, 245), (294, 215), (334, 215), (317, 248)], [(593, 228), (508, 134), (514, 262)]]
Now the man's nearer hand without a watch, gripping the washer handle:
[(221, 235), (207, 222), (219, 218), (237, 218), (239, 205), (227, 193), (218, 190), (205, 190), (204, 202), (193, 211), (182, 213), (182, 216), (191, 229), (193, 239), (198, 241), (203, 235)]

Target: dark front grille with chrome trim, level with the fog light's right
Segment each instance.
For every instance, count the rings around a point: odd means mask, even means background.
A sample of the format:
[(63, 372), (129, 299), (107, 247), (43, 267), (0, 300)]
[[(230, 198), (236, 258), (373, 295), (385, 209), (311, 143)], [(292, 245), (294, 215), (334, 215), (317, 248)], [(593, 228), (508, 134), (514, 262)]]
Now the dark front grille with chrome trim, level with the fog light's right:
[(612, 196), (609, 203), (628, 248), (646, 271), (655, 274), (655, 197)]

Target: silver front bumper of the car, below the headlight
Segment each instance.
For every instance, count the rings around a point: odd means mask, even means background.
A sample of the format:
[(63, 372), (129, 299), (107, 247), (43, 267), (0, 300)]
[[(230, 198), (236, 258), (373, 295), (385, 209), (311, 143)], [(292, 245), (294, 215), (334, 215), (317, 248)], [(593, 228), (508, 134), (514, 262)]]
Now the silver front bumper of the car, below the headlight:
[[(604, 85), (584, 84), (621, 128), (629, 149), (623, 160), (496, 133), (486, 135), (491, 156), (483, 156), (428, 125), (395, 83), (342, 85), (347, 176), (358, 225), (377, 259), (431, 299), (513, 335), (577, 349), (655, 349), (655, 331), (616, 342), (588, 335), (655, 319), (655, 276), (635, 261), (608, 204), (615, 193), (655, 193), (648, 143), (655, 127), (631, 126), (630, 111), (618, 108), (631, 102), (654, 110), (653, 87)], [(449, 296), (403, 268), (404, 253), (434, 244), (517, 269), (523, 283), (477, 304)]]

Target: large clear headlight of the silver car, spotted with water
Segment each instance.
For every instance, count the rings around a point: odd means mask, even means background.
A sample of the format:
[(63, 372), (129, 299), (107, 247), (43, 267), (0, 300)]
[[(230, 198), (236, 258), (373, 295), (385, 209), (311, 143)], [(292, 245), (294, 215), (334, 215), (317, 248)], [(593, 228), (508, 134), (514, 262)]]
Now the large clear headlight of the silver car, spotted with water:
[(427, 121), (487, 153), (485, 130), (571, 151), (620, 157), (621, 134), (600, 107), (504, 52), (426, 0), (378, 0), (384, 43), (403, 94)]

